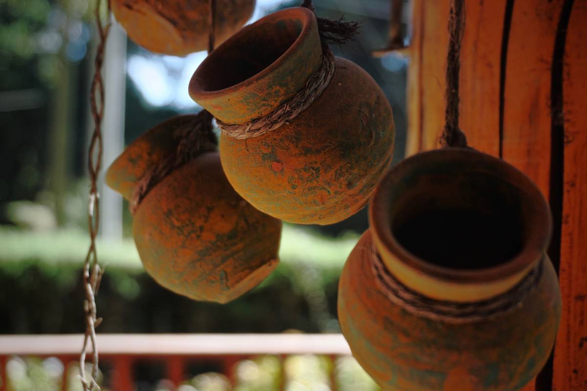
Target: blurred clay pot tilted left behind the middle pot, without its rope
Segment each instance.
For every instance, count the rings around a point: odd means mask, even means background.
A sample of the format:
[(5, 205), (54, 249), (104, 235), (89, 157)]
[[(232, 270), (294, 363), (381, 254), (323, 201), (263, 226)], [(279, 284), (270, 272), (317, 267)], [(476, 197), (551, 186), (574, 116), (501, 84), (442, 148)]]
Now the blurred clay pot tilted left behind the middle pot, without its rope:
[[(173, 153), (173, 130), (193, 117), (171, 118), (141, 135), (110, 166), (106, 183), (130, 199), (147, 170)], [(208, 152), (147, 193), (133, 217), (133, 236), (157, 283), (194, 300), (224, 303), (277, 266), (281, 222), (242, 199), (222, 172), (218, 152)]]

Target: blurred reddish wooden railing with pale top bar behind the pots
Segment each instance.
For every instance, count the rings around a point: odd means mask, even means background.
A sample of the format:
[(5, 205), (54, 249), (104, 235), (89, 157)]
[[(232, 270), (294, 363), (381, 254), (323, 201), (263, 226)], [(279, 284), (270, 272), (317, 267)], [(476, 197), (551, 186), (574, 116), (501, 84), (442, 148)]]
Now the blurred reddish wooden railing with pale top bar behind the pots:
[[(6, 335), (0, 336), (1, 391), (6, 391), (6, 362), (10, 356), (56, 357), (66, 368), (76, 362), (82, 335)], [(349, 345), (340, 334), (102, 334), (99, 335), (100, 363), (112, 367), (112, 391), (132, 391), (133, 363), (143, 359), (161, 360), (166, 378), (174, 386), (188, 378), (185, 363), (216, 363), (234, 385), (234, 366), (238, 361), (258, 355), (299, 354), (349, 355)], [(66, 390), (67, 371), (62, 388)], [(336, 382), (331, 382), (334, 391)], [(282, 386), (283, 388), (283, 386)]]

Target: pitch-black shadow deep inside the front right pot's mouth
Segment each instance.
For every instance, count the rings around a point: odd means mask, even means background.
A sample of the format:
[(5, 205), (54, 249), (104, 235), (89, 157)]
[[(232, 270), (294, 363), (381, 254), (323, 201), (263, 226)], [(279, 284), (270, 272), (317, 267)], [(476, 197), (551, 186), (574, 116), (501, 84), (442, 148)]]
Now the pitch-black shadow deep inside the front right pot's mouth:
[(498, 266), (521, 253), (526, 227), (508, 200), (492, 199), (487, 209), (430, 208), (433, 203), (417, 200), (419, 210), (392, 216), (393, 236), (413, 256), (440, 267), (467, 270)]

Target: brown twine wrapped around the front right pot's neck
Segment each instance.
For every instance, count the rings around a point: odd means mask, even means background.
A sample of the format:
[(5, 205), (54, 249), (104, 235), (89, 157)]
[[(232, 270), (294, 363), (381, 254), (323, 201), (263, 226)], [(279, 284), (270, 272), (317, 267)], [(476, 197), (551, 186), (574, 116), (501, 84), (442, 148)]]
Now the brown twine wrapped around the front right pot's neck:
[(389, 301), (418, 317), (450, 324), (481, 322), (521, 307), (526, 295), (537, 287), (544, 270), (542, 257), (518, 284), (500, 295), (474, 302), (442, 301), (406, 287), (387, 270), (375, 246), (369, 251), (373, 277)]

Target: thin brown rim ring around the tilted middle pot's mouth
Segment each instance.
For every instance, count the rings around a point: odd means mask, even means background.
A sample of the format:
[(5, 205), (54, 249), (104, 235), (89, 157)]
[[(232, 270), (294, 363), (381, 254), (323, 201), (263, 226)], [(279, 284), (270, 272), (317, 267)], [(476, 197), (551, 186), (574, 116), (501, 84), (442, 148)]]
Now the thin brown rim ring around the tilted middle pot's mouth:
[[(255, 73), (253, 76), (249, 77), (248, 79), (242, 80), (239, 83), (233, 84), (230, 87), (225, 87), (224, 89), (207, 91), (202, 88), (201, 84), (197, 83), (198, 79), (200, 79), (199, 77), (197, 77), (197, 76), (199, 76), (198, 71), (202, 72), (201, 70), (204, 69), (209, 62), (215, 61), (216, 56), (214, 55), (214, 53), (218, 54), (217, 50), (224, 49), (227, 46), (238, 45), (239, 40), (241, 40), (242, 35), (244, 35), (245, 33), (248, 33), (249, 30), (259, 29), (259, 25), (262, 25), (263, 23), (265, 23), (267, 21), (271, 21), (271, 20), (276, 19), (278, 17), (281, 18), (284, 14), (286, 14), (286, 15), (289, 14), (289, 16), (292, 19), (299, 19), (302, 22), (302, 30), (299, 33), (298, 38), (296, 38), (294, 40), (294, 42), (288, 47), (288, 49), (285, 50), (285, 52), (282, 53), (281, 56), (279, 56), (277, 59), (275, 59), (274, 62), (269, 64), (267, 67), (265, 67), (265, 69), (261, 70), (261, 72)], [(201, 62), (200, 66), (198, 66), (198, 68), (195, 70), (195, 72), (191, 76), (190, 84), (188, 85), (188, 91), (190, 93), (190, 96), (192, 98), (195, 97), (196, 99), (215, 98), (215, 97), (224, 96), (226, 94), (235, 93), (239, 90), (242, 90), (242, 89), (245, 89), (246, 87), (251, 86), (251, 84), (254, 84), (255, 81), (264, 78), (265, 76), (267, 76), (268, 74), (273, 72), (276, 68), (281, 66), (282, 63), (287, 62), (289, 57), (292, 57), (292, 55), (294, 55), (294, 52), (298, 49), (298, 47), (301, 46), (301, 43), (308, 36), (311, 35), (311, 33), (312, 33), (311, 27), (313, 25), (316, 25), (316, 15), (312, 11), (310, 11), (308, 8), (305, 8), (305, 7), (292, 7), (292, 8), (285, 8), (285, 9), (281, 9), (279, 11), (270, 13), (269, 15), (264, 16), (263, 18), (259, 19), (258, 21), (251, 23), (250, 25), (244, 26), (242, 29), (240, 29), (237, 33), (235, 33), (229, 39), (225, 40), (220, 46), (218, 46), (217, 48), (212, 50), (212, 53), (210, 53), (204, 59), (204, 61)]]

